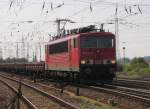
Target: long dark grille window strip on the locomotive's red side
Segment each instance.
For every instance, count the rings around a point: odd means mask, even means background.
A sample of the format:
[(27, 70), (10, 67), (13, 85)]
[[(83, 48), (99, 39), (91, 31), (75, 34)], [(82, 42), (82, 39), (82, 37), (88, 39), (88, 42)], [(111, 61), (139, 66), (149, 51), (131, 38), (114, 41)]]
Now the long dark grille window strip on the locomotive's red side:
[(49, 45), (49, 54), (68, 52), (68, 41)]

